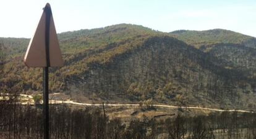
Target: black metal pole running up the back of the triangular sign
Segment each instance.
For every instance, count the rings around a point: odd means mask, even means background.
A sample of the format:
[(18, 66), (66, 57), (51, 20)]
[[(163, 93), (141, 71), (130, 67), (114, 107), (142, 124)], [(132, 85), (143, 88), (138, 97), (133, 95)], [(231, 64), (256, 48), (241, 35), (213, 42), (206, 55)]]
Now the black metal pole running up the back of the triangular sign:
[(46, 67), (43, 68), (43, 127), (44, 139), (49, 139), (49, 25), (51, 20), (51, 7), (46, 4), (44, 12), (46, 14), (45, 24), (45, 52), (46, 52)]

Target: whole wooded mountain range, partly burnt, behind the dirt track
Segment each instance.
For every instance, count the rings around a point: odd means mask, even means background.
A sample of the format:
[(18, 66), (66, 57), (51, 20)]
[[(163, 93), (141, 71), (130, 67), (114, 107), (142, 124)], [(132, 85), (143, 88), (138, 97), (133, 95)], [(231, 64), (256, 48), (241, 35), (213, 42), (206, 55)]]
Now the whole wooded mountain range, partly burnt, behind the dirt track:
[[(255, 38), (227, 30), (163, 33), (120, 24), (58, 34), (65, 65), (51, 68), (51, 92), (108, 101), (253, 108)], [(28, 39), (7, 47), (1, 88), (41, 90), (41, 69), (23, 65)]]

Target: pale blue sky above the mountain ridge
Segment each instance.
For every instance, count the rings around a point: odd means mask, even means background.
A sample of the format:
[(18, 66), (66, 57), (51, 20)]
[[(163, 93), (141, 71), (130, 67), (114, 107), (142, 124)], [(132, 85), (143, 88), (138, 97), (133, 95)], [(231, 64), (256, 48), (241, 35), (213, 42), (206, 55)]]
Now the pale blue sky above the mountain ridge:
[(164, 32), (223, 28), (256, 36), (255, 0), (1, 0), (0, 37), (30, 38), (46, 2), (58, 33), (132, 23)]

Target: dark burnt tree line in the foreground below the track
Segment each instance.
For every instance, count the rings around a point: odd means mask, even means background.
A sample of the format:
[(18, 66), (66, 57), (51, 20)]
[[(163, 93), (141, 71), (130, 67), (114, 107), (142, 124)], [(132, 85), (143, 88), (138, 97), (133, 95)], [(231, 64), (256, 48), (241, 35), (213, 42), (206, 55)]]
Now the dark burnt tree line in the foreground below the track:
[[(0, 108), (1, 138), (43, 138), (40, 106), (12, 103)], [(49, 126), (51, 138), (256, 138), (256, 114), (236, 111), (123, 122), (109, 119), (100, 108), (71, 109), (62, 104), (50, 106)]]

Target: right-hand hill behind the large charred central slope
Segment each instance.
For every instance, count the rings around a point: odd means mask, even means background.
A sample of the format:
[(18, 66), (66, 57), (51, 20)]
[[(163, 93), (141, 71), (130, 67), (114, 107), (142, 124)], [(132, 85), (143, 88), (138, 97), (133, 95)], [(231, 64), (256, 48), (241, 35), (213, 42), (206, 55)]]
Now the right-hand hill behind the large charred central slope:
[(250, 84), (244, 82), (241, 86), (252, 88), (255, 92), (255, 67), (256, 67), (256, 39), (251, 36), (228, 30), (207, 31), (174, 31), (176, 38), (214, 57), (221, 62), (215, 65), (236, 70), (249, 79)]

